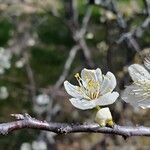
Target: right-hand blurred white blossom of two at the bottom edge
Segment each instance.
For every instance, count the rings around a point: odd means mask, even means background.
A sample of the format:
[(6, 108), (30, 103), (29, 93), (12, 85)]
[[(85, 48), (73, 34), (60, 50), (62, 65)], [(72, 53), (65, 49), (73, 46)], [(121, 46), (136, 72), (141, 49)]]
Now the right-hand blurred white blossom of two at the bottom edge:
[(34, 141), (32, 143), (33, 150), (47, 150), (47, 144), (45, 141)]

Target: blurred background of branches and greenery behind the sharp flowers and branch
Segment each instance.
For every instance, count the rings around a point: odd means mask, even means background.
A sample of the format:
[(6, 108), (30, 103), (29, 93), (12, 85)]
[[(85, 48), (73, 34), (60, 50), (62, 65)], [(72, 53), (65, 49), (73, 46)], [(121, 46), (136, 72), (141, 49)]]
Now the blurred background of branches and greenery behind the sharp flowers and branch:
[[(0, 0), (0, 122), (12, 113), (41, 120), (93, 122), (94, 110), (69, 102), (64, 80), (77, 84), (83, 68), (109, 70), (121, 93), (127, 67), (150, 52), (149, 0)], [(110, 106), (119, 125), (150, 126), (149, 110), (118, 98)], [(2, 150), (149, 149), (148, 137), (20, 130), (0, 136)]]

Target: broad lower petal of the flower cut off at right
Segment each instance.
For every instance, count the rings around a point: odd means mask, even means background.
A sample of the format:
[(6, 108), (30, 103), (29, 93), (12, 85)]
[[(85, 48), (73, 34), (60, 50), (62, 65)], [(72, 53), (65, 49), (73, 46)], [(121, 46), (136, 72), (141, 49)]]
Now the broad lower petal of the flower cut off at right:
[(133, 84), (126, 87), (121, 98), (133, 107), (149, 108), (150, 98), (146, 97), (144, 93), (145, 91), (141, 86)]

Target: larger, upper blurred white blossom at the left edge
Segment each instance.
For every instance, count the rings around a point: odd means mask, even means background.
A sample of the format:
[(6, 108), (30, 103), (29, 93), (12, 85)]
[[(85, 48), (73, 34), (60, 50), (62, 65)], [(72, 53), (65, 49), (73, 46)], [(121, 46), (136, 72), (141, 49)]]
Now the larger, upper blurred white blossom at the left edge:
[(0, 48), (0, 74), (3, 74), (5, 69), (9, 69), (11, 67), (11, 52), (5, 50), (4, 48)]

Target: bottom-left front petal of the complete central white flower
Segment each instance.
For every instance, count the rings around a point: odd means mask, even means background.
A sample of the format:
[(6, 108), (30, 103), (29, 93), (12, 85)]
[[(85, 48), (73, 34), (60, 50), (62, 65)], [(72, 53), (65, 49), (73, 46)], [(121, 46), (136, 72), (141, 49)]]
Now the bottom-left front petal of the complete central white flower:
[(96, 107), (96, 104), (94, 101), (88, 101), (88, 100), (79, 99), (79, 98), (71, 98), (69, 100), (71, 104), (78, 109), (86, 110), (86, 109), (92, 109)]

